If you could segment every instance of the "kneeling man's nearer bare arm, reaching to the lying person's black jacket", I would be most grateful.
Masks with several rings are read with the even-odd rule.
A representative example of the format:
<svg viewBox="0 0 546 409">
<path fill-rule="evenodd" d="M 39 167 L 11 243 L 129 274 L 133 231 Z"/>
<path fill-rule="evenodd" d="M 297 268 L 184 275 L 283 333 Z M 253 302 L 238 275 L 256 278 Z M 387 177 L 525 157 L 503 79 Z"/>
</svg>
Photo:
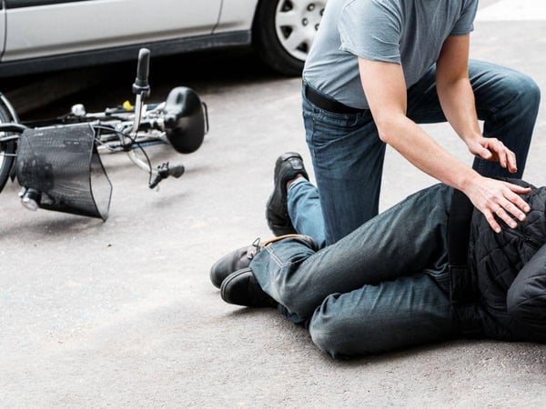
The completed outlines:
<svg viewBox="0 0 546 409">
<path fill-rule="evenodd" d="M 501 231 L 501 226 L 494 214 L 512 227 L 517 225 L 512 216 L 525 219 L 529 206 L 518 194 L 528 193 L 527 189 L 479 175 L 406 116 L 407 91 L 401 65 L 359 58 L 359 71 L 383 142 L 421 171 L 468 195 L 495 231 Z"/>
</svg>

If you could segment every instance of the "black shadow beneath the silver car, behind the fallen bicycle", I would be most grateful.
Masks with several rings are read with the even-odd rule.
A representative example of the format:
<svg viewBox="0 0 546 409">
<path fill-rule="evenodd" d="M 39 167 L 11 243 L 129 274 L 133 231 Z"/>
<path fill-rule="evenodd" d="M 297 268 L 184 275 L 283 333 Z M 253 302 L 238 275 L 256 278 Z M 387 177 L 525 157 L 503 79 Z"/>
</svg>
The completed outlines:
<svg viewBox="0 0 546 409">
<path fill-rule="evenodd" d="M 98 112 L 132 101 L 135 61 L 96 65 L 61 72 L 2 80 L 0 90 L 12 101 L 22 121 L 64 115 L 82 103 L 87 112 Z M 253 84 L 286 78 L 266 65 L 247 48 L 183 55 L 152 55 L 150 99 L 162 100 L 175 86 L 188 86 L 197 93 L 215 86 Z M 21 92 L 23 91 L 23 92 Z M 40 104 L 39 101 L 44 101 Z"/>
</svg>

